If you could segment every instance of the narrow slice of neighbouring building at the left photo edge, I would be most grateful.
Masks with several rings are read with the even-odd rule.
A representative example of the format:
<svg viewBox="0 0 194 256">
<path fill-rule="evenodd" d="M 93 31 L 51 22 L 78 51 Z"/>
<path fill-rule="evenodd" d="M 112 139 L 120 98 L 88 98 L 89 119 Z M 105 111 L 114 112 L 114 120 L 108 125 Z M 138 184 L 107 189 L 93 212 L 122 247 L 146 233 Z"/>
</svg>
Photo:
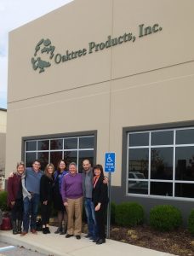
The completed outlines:
<svg viewBox="0 0 194 256">
<path fill-rule="evenodd" d="M 5 174 L 7 110 L 0 108 L 0 176 Z"/>
</svg>

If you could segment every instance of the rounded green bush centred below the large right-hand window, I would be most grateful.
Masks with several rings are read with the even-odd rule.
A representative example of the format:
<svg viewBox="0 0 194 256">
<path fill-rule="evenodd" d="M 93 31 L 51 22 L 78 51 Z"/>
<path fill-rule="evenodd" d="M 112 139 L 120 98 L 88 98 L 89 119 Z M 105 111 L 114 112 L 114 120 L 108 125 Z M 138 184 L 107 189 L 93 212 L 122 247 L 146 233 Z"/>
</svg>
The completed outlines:
<svg viewBox="0 0 194 256">
<path fill-rule="evenodd" d="M 155 230 L 170 231 L 182 224 L 181 212 L 178 208 L 163 205 L 153 207 L 150 212 L 150 225 Z"/>
</svg>

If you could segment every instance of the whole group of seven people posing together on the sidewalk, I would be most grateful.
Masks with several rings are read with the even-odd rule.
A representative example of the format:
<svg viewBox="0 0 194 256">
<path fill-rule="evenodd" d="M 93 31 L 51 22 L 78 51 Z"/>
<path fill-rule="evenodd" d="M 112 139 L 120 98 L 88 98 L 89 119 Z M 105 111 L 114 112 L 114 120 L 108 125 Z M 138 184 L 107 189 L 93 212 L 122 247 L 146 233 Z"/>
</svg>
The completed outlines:
<svg viewBox="0 0 194 256">
<path fill-rule="evenodd" d="M 59 161 L 56 171 L 54 165 L 49 163 L 44 172 L 41 171 L 39 160 L 34 160 L 32 167 L 28 168 L 23 162 L 18 163 L 16 172 L 9 175 L 8 181 L 13 234 L 26 236 L 29 227 L 31 233 L 37 234 L 40 202 L 43 234 L 50 233 L 49 218 L 53 204 L 59 224 L 54 233 L 80 239 L 84 204 L 88 222 L 88 234 L 85 237 L 96 244 L 106 242 L 107 183 L 103 167 L 96 165 L 92 168 L 89 160 L 83 160 L 82 173 L 77 172 L 74 162 L 66 170 L 65 160 Z"/>
</svg>

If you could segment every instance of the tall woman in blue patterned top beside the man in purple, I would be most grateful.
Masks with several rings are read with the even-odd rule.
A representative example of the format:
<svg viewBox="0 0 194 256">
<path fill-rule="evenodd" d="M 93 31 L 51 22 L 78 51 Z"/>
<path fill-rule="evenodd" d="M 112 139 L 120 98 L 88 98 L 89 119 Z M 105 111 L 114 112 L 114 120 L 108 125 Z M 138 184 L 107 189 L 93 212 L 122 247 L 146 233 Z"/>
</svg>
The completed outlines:
<svg viewBox="0 0 194 256">
<path fill-rule="evenodd" d="M 61 197 L 61 183 L 63 177 L 67 174 L 65 160 L 60 160 L 57 165 L 57 171 L 54 172 L 54 209 L 57 210 L 58 217 L 58 229 L 54 232 L 55 234 L 65 235 L 67 226 L 67 213 L 66 207 L 63 205 Z M 62 224 L 64 221 L 64 224 Z"/>
</svg>

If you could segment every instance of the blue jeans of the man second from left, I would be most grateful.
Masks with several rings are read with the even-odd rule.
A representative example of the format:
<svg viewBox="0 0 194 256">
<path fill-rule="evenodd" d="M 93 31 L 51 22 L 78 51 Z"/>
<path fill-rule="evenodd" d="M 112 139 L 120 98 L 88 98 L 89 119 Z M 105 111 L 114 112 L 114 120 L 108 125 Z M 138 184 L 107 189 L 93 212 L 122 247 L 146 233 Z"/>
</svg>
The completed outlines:
<svg viewBox="0 0 194 256">
<path fill-rule="evenodd" d="M 24 199 L 23 228 L 26 232 L 28 232 L 29 224 L 31 224 L 31 230 L 36 230 L 37 208 L 39 205 L 39 198 L 40 195 L 33 194 L 31 195 L 31 200 L 27 196 Z"/>
</svg>

